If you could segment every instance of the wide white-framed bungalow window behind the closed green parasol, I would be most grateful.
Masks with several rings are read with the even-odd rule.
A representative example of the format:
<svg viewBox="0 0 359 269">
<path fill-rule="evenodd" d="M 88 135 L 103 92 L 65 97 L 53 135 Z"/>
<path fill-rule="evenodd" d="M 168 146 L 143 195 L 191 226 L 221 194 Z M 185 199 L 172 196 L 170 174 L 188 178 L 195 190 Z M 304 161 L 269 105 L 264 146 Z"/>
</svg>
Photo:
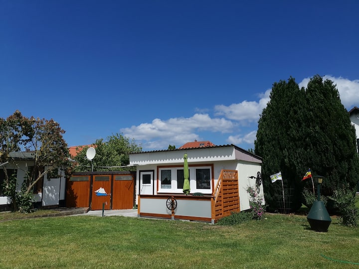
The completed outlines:
<svg viewBox="0 0 359 269">
<path fill-rule="evenodd" d="M 193 167 L 189 169 L 189 184 L 191 193 L 211 193 L 212 174 L 209 166 Z M 183 167 L 159 169 L 159 192 L 182 193 L 183 191 Z"/>
</svg>

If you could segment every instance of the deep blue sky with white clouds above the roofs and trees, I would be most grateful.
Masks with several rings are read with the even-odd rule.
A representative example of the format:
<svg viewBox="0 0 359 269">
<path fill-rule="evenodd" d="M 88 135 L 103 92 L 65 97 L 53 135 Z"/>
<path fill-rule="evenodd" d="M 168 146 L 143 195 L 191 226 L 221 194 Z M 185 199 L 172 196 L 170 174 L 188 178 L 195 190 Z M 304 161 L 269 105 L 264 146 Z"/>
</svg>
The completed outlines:
<svg viewBox="0 0 359 269">
<path fill-rule="evenodd" d="M 359 1 L 0 0 L 0 117 L 54 119 L 69 146 L 254 147 L 274 82 L 333 80 L 359 106 Z"/>
</svg>

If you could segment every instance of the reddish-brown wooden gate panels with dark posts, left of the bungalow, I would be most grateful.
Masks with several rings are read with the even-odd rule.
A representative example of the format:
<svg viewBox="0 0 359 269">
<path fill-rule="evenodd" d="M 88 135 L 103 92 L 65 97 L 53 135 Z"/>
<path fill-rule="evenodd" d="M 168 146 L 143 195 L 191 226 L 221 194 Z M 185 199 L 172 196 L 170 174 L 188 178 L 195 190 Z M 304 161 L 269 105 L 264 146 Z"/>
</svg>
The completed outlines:
<svg viewBox="0 0 359 269">
<path fill-rule="evenodd" d="M 130 171 L 76 172 L 67 180 L 66 207 L 132 209 L 135 182 L 135 173 Z M 97 196 L 100 187 L 109 195 Z"/>
</svg>

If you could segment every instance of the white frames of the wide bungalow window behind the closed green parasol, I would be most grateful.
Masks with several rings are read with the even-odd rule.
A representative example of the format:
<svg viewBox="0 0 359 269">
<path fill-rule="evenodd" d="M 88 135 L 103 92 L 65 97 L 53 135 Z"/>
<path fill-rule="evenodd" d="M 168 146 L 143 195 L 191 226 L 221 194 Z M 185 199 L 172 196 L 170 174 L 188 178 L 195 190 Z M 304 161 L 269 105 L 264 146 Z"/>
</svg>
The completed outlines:
<svg viewBox="0 0 359 269">
<path fill-rule="evenodd" d="M 209 169 L 210 175 L 210 188 L 209 189 L 197 189 L 196 184 L 196 169 Z M 161 188 L 161 171 L 171 170 L 171 188 Z M 183 170 L 183 167 L 165 167 L 162 166 L 158 170 L 158 193 L 183 193 L 183 189 L 177 188 L 177 170 Z M 190 193 L 201 192 L 203 194 L 212 194 L 212 166 L 190 166 L 189 167 L 189 185 Z"/>
</svg>

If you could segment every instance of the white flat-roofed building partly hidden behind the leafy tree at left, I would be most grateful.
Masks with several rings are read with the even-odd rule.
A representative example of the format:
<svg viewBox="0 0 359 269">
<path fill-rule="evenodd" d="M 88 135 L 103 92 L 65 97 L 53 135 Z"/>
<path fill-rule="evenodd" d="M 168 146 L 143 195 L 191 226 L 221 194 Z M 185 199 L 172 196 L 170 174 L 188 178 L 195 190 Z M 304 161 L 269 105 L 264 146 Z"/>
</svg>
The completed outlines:
<svg viewBox="0 0 359 269">
<path fill-rule="evenodd" d="M 8 175 L 15 175 L 17 190 L 21 188 L 26 172 L 33 169 L 34 153 L 31 151 L 11 152 L 12 161 L 6 163 Z M 41 169 L 47 169 L 43 166 Z M 47 174 L 33 188 L 34 202 L 38 206 L 63 206 L 65 204 L 65 173 L 64 167 L 59 167 L 60 178 L 48 179 Z M 4 196 L 2 182 L 4 181 L 3 167 L 0 167 L 0 211 L 9 210 L 11 198 Z"/>
</svg>

